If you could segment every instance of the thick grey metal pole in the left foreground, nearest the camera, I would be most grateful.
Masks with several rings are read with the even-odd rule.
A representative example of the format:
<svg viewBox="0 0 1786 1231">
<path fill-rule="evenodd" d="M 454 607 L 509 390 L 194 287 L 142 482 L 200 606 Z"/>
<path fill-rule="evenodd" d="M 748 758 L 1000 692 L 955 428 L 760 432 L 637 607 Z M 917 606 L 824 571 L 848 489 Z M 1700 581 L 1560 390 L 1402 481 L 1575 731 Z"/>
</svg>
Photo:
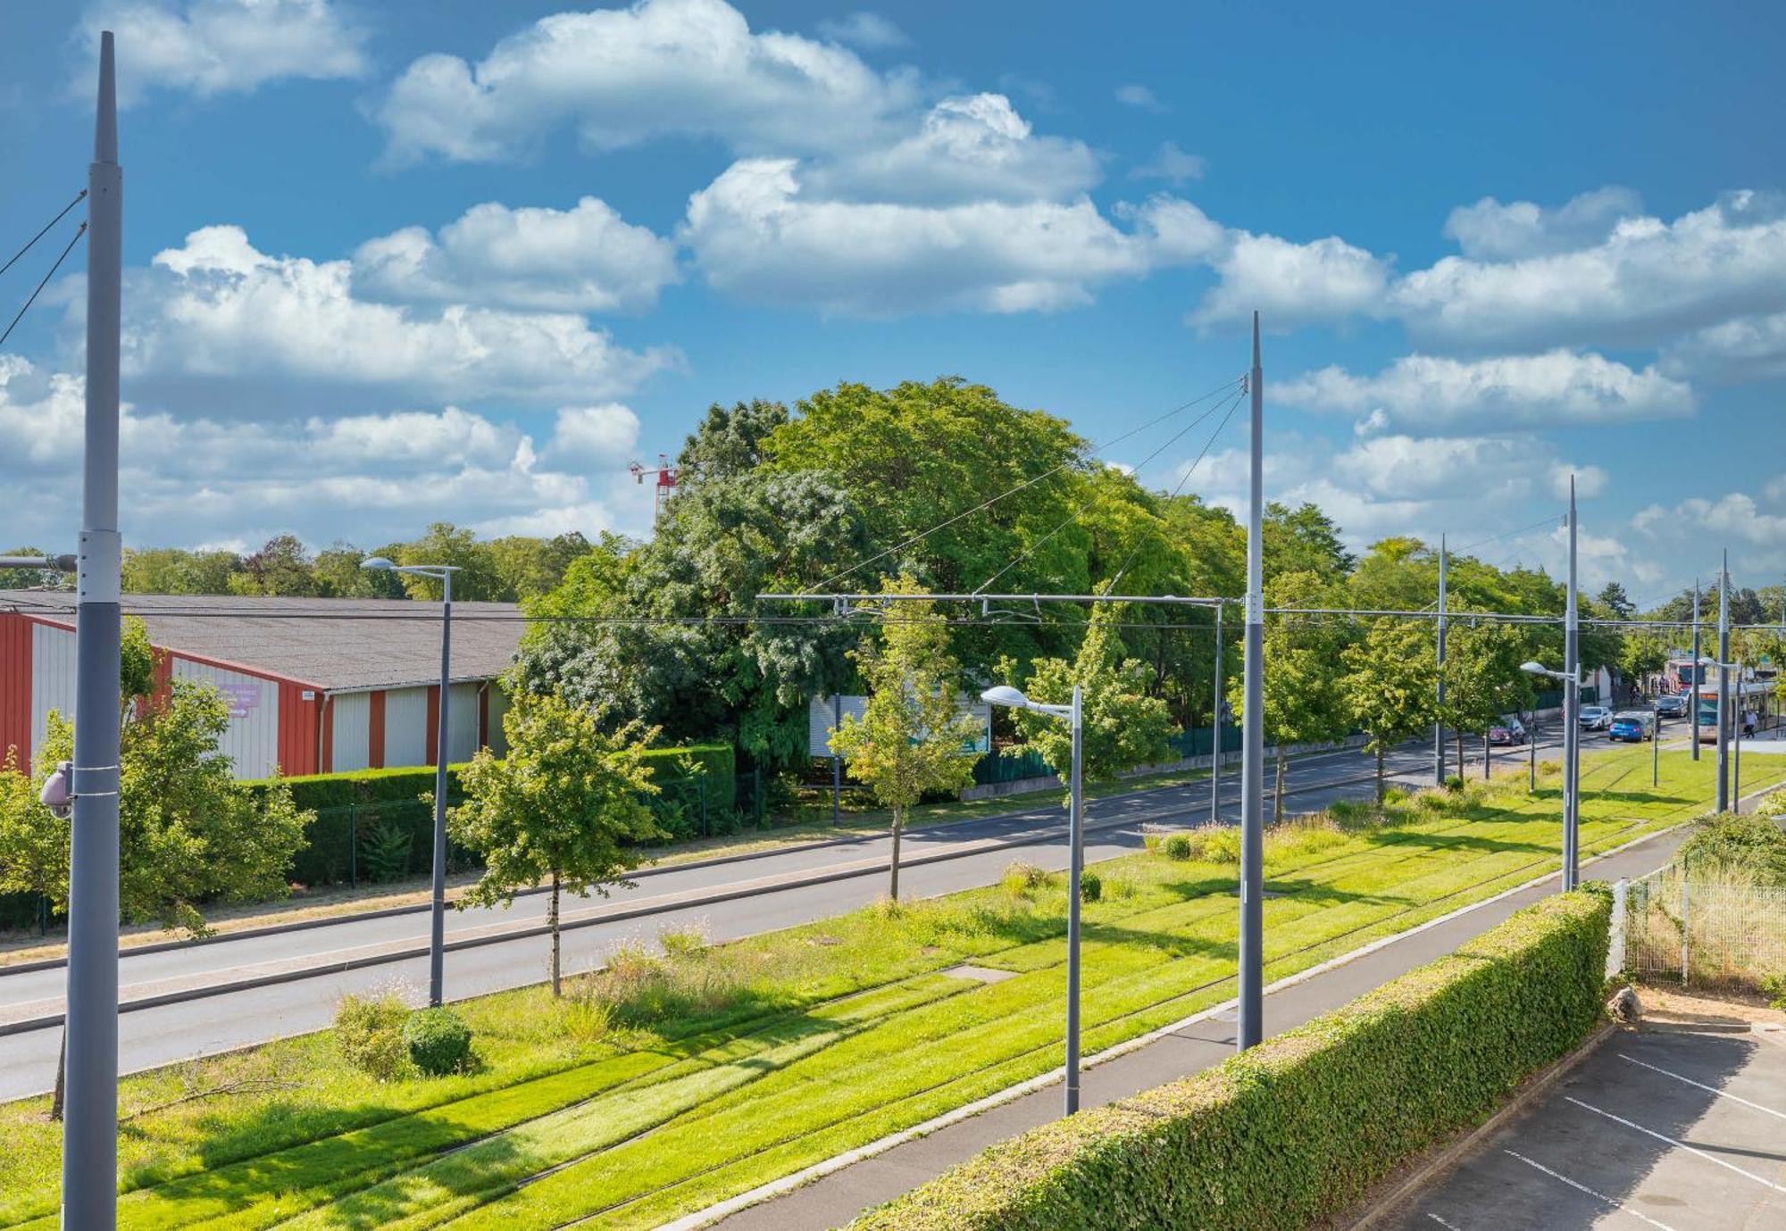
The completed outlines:
<svg viewBox="0 0 1786 1231">
<path fill-rule="evenodd" d="M 75 812 L 68 885 L 68 1072 L 63 1226 L 118 1220 L 118 323 L 123 169 L 111 30 L 100 34 L 98 111 L 88 166 L 88 392 L 75 616 Z"/>
</svg>

